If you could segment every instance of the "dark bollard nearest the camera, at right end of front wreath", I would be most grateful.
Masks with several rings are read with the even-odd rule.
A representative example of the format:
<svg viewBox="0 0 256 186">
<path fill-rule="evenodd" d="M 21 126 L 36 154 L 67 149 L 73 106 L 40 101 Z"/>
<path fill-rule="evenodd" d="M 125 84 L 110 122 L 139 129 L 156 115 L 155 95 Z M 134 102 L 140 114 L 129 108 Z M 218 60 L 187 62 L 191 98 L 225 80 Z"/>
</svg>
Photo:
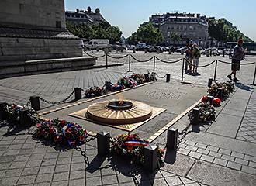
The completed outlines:
<svg viewBox="0 0 256 186">
<path fill-rule="evenodd" d="M 157 146 L 151 146 L 148 145 L 144 148 L 144 169 L 153 172 L 157 169 L 157 161 L 158 161 L 158 156 L 157 156 Z"/>
</svg>

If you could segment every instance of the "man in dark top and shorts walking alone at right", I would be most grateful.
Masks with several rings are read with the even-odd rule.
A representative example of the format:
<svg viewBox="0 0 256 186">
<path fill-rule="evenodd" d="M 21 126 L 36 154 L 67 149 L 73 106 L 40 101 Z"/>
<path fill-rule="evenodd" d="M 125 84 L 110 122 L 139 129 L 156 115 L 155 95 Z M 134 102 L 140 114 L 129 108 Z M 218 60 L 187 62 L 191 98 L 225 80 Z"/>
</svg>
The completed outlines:
<svg viewBox="0 0 256 186">
<path fill-rule="evenodd" d="M 243 40 L 238 40 L 237 45 L 234 47 L 233 57 L 231 58 L 231 74 L 227 75 L 227 77 L 232 81 L 232 74 L 234 75 L 233 81 L 239 81 L 237 79 L 237 71 L 240 71 L 240 61 L 244 59 L 244 48 L 243 48 Z"/>
</svg>

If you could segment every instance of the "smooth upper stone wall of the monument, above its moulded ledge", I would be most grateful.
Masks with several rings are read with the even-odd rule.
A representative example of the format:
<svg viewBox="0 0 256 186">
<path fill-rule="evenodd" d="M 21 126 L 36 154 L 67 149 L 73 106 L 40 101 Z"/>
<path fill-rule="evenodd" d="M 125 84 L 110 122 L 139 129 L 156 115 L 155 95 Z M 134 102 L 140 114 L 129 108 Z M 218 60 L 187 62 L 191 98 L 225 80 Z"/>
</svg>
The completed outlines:
<svg viewBox="0 0 256 186">
<path fill-rule="evenodd" d="M 1 0 L 0 22 L 64 29 L 64 0 Z"/>
</svg>

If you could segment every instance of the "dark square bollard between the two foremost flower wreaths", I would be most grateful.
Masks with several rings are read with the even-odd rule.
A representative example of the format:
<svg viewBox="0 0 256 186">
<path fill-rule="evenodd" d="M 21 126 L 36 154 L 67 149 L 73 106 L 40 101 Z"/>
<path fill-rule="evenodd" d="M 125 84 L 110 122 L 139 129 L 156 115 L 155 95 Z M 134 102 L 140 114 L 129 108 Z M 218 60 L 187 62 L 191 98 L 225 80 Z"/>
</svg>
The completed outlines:
<svg viewBox="0 0 256 186">
<path fill-rule="evenodd" d="M 106 156 L 110 152 L 110 133 L 109 132 L 100 132 L 97 134 L 97 149 L 98 154 Z"/>
</svg>

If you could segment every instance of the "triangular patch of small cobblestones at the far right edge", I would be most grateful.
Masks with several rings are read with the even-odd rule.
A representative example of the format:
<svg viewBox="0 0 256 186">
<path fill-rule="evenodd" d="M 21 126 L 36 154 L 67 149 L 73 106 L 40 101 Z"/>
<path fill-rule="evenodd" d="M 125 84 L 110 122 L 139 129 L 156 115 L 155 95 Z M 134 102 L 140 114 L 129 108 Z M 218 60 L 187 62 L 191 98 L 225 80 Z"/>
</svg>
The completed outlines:
<svg viewBox="0 0 256 186">
<path fill-rule="evenodd" d="M 237 139 L 256 143 L 256 94 L 251 94 L 244 119 L 237 133 Z"/>
</svg>

